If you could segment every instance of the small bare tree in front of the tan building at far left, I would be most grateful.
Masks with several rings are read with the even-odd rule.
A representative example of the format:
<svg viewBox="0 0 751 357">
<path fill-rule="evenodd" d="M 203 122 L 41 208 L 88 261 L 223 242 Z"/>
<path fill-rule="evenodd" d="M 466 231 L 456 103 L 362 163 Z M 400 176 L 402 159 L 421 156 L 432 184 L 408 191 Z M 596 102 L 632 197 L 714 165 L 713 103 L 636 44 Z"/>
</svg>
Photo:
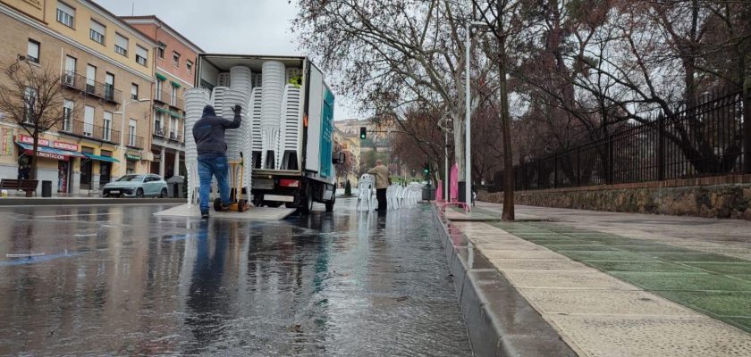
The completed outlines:
<svg viewBox="0 0 751 357">
<path fill-rule="evenodd" d="M 5 67 L 0 81 L 0 112 L 34 138 L 31 179 L 37 178 L 39 136 L 64 120 L 63 77 L 46 67 L 18 61 Z M 72 115 L 72 114 L 71 114 Z"/>
</svg>

